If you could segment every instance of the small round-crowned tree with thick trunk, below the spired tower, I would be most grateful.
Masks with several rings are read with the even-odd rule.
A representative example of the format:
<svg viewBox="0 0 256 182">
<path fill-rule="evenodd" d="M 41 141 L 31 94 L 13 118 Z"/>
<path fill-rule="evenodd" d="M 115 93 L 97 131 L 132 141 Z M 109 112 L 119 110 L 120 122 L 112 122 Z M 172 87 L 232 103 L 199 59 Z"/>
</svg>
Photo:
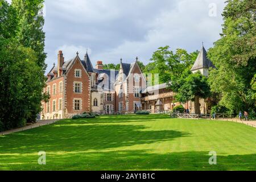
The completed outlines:
<svg viewBox="0 0 256 182">
<path fill-rule="evenodd" d="M 184 71 L 180 78 L 176 77 L 176 80 L 172 81 L 170 88 L 176 93 L 176 101 L 194 101 L 196 114 L 200 114 L 200 98 L 210 97 L 207 77 L 200 71 L 193 74 L 188 70 Z"/>
</svg>

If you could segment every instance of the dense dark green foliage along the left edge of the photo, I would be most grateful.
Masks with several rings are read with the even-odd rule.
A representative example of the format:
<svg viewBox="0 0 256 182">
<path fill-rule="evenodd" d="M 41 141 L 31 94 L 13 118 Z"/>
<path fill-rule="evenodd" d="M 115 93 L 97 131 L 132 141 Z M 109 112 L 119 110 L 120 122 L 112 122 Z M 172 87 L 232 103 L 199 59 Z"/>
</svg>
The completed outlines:
<svg viewBox="0 0 256 182">
<path fill-rule="evenodd" d="M 45 78 L 36 50 L 17 38 L 19 5 L 0 2 L 0 122 L 1 130 L 8 130 L 34 122 L 42 110 L 41 101 L 47 101 L 48 95 L 42 94 Z"/>
</svg>

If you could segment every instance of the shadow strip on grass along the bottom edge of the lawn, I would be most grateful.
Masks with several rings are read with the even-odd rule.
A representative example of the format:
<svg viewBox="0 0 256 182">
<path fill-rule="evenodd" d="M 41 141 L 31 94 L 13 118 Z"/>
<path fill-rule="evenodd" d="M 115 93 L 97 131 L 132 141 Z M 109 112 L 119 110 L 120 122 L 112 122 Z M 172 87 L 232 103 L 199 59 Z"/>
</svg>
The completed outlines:
<svg viewBox="0 0 256 182">
<path fill-rule="evenodd" d="M 217 155 L 217 164 L 210 165 L 209 151 L 150 153 L 147 150 L 115 152 L 78 152 L 48 155 L 47 165 L 36 164 L 36 156 L 23 163 L 9 163 L 0 169 L 19 170 L 256 170 L 256 154 Z M 34 161 L 33 163 L 31 161 Z M 30 162 L 30 163 L 29 163 Z"/>
</svg>

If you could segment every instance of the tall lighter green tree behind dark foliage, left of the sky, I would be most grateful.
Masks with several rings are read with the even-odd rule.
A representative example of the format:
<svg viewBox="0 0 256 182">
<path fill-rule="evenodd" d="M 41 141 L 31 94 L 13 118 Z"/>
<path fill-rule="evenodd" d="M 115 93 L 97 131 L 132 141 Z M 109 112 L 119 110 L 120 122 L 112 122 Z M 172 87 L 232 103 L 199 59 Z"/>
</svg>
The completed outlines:
<svg viewBox="0 0 256 182">
<path fill-rule="evenodd" d="M 44 17 L 40 12 L 44 0 L 13 0 L 12 5 L 18 13 L 18 40 L 24 47 L 32 48 L 36 53 L 36 62 L 46 69 L 43 32 Z"/>
</svg>

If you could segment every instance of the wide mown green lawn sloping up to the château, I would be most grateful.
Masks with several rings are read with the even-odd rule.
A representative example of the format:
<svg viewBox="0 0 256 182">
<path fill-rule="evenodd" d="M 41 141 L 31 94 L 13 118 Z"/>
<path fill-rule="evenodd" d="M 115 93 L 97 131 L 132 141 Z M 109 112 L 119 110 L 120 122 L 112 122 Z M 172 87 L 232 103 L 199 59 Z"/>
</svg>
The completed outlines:
<svg viewBox="0 0 256 182">
<path fill-rule="evenodd" d="M 209 165 L 209 151 L 217 165 Z M 0 136 L 0 170 L 8 169 L 256 170 L 256 129 L 166 115 L 67 119 Z"/>
</svg>

